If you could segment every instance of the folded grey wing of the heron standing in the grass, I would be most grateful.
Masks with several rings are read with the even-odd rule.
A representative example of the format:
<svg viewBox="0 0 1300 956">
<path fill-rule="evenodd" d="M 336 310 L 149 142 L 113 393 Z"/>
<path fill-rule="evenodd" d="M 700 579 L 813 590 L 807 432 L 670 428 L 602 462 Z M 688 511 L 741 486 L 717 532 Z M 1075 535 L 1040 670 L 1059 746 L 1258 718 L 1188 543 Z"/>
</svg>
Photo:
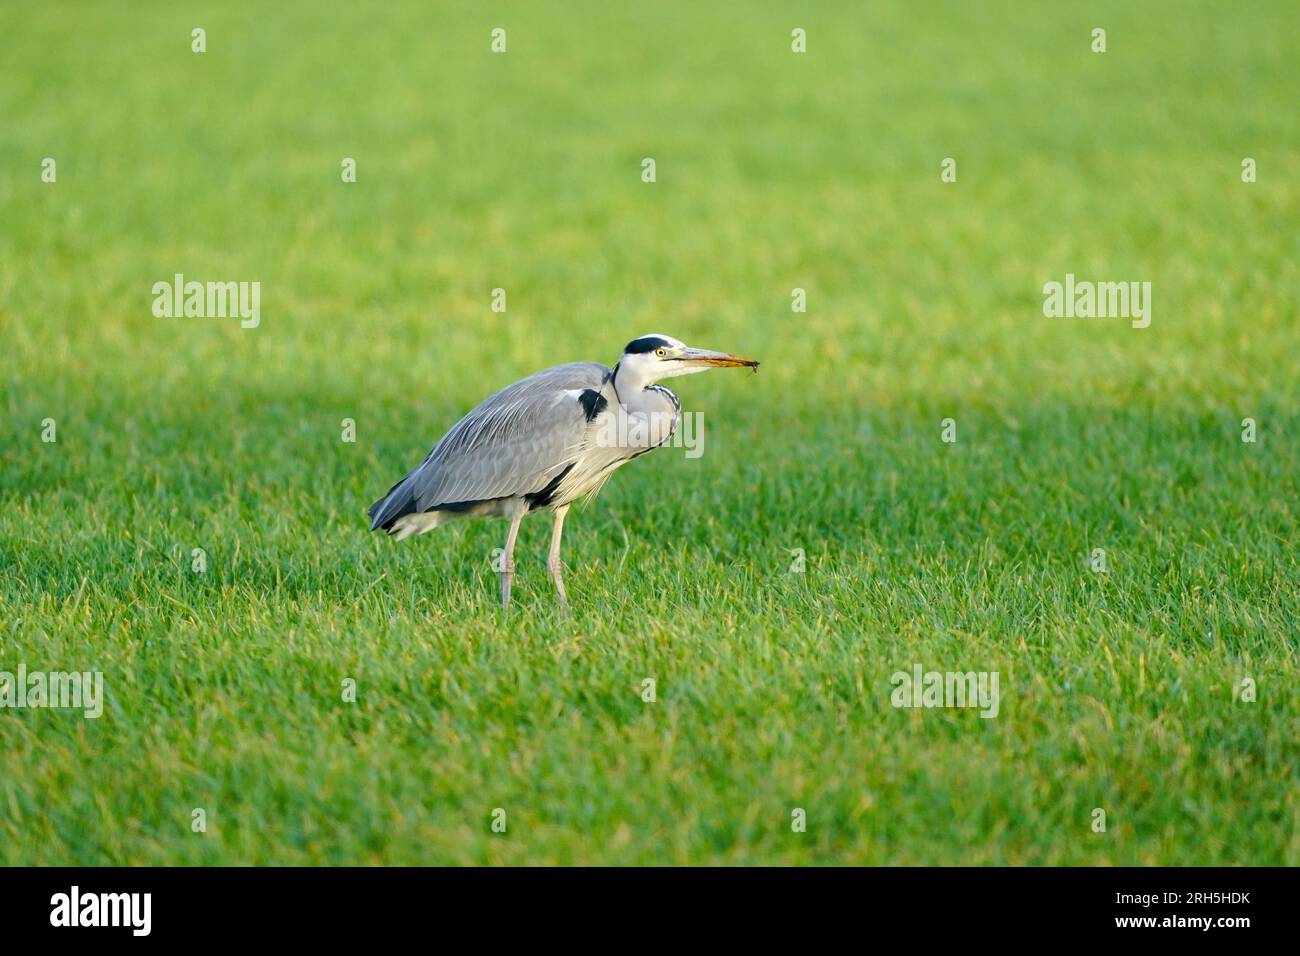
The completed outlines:
<svg viewBox="0 0 1300 956">
<path fill-rule="evenodd" d="M 610 375 L 597 362 L 556 365 L 485 399 L 374 503 L 372 527 L 403 514 L 541 492 L 576 460 L 589 425 L 581 395 L 599 393 Z"/>
</svg>

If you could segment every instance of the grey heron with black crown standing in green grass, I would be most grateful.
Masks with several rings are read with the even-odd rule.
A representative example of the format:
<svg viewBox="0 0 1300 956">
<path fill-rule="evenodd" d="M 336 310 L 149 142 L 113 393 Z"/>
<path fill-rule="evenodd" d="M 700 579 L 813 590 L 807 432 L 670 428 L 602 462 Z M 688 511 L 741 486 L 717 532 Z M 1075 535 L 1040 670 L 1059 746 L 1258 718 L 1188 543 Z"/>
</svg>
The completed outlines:
<svg viewBox="0 0 1300 956">
<path fill-rule="evenodd" d="M 681 403 L 655 382 L 727 367 L 757 369 L 758 363 L 649 334 L 628 342 L 614 368 L 575 362 L 530 375 L 452 425 L 370 506 L 370 531 L 382 528 L 400 541 L 456 518 L 510 519 L 499 570 L 500 602 L 508 609 L 519 524 L 532 511 L 551 511 L 546 572 L 567 607 L 560 533 L 569 505 L 593 497 L 615 468 L 672 438 Z"/>
</svg>

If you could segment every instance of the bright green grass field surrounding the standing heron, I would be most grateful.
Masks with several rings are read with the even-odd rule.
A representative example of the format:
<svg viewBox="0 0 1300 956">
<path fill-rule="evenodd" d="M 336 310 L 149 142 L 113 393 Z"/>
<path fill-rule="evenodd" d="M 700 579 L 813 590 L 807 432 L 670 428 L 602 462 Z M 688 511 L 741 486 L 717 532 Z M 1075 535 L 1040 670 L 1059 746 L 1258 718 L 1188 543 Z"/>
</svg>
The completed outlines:
<svg viewBox="0 0 1300 956">
<path fill-rule="evenodd" d="M 107 702 L 0 710 L 0 864 L 1300 862 L 1295 8 L 1078 7 L 5 5 L 0 670 Z M 504 524 L 367 532 L 645 332 L 762 372 L 569 515 L 571 619 L 546 519 L 504 620 Z"/>
</svg>

